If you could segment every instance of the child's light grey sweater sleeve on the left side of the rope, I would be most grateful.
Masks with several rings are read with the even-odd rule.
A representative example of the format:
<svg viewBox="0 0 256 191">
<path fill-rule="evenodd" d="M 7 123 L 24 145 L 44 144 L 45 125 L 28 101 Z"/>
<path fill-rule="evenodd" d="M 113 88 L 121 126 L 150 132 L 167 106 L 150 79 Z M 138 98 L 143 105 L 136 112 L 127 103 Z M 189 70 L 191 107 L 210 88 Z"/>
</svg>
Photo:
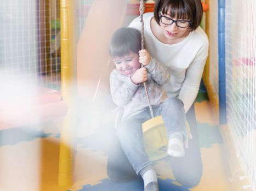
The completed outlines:
<svg viewBox="0 0 256 191">
<path fill-rule="evenodd" d="M 125 77 L 121 80 L 120 74 L 115 70 L 110 74 L 110 91 L 113 102 L 118 106 L 126 105 L 133 97 L 133 94 L 138 89 L 139 85 L 135 85 L 130 77 Z"/>
</svg>

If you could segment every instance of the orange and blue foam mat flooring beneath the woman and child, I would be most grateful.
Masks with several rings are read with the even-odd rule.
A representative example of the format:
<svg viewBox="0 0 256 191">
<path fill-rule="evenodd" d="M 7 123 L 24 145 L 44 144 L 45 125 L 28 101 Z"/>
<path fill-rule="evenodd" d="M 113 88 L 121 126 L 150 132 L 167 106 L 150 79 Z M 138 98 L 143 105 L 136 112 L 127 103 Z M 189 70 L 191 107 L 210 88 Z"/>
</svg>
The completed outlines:
<svg viewBox="0 0 256 191">
<path fill-rule="evenodd" d="M 203 162 L 201 182 L 193 188 L 175 182 L 170 164 L 162 159 L 155 163 L 161 191 L 231 190 L 223 140 L 205 92 L 198 94 L 195 110 Z M 141 178 L 124 183 L 110 181 L 106 174 L 108 156 L 105 152 L 109 148 L 93 144 L 93 136 L 77 138 L 74 183 L 70 187 L 58 186 L 59 133 L 53 122 L 0 131 L 0 190 L 144 190 Z M 104 136 L 104 133 L 98 135 Z"/>
</svg>

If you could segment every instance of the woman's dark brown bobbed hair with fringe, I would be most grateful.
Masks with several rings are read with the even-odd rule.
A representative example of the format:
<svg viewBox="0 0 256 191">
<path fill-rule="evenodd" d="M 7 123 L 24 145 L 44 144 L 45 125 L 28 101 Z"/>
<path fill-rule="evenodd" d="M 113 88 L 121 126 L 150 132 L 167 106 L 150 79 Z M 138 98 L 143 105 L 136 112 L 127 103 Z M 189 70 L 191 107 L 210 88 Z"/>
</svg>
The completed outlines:
<svg viewBox="0 0 256 191">
<path fill-rule="evenodd" d="M 202 20 L 203 7 L 201 0 L 156 0 L 154 17 L 160 25 L 160 13 L 178 19 L 189 19 L 189 27 L 195 30 Z"/>
</svg>

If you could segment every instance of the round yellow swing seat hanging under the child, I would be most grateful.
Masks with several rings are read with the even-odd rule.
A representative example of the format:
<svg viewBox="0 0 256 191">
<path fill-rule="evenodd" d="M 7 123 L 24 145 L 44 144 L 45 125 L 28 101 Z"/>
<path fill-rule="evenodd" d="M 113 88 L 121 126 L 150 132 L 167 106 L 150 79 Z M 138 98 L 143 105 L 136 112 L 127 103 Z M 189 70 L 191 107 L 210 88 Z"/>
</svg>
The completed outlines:
<svg viewBox="0 0 256 191">
<path fill-rule="evenodd" d="M 168 156 L 168 139 L 162 116 L 153 117 L 142 124 L 145 151 L 151 161 Z"/>
</svg>

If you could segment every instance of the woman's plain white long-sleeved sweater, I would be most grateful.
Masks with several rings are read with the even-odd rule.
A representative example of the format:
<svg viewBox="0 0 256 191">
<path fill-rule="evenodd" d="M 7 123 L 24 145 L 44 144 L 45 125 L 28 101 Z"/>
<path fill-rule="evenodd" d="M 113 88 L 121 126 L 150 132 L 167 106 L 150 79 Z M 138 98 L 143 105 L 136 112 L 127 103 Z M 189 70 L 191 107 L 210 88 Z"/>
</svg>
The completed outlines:
<svg viewBox="0 0 256 191">
<path fill-rule="evenodd" d="M 204 64 L 208 56 L 208 38 L 198 27 L 177 44 L 164 44 L 153 35 L 150 20 L 153 13 L 144 14 L 145 49 L 150 55 L 170 68 L 171 77 L 164 85 L 168 97 L 178 97 L 187 112 L 194 103 L 200 86 Z M 129 27 L 141 31 L 139 17 Z"/>
</svg>

